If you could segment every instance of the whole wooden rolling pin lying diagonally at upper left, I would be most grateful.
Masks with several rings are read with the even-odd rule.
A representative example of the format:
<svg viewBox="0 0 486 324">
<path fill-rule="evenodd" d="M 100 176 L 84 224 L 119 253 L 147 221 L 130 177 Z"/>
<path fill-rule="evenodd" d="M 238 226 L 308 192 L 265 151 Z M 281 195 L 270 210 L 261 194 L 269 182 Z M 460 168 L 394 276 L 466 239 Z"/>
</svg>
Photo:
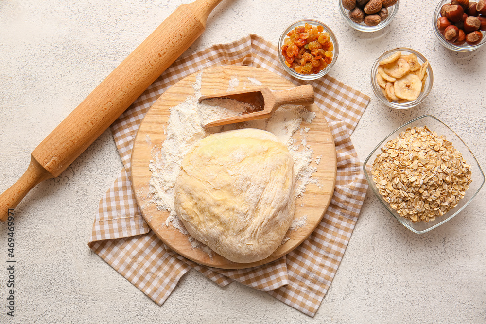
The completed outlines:
<svg viewBox="0 0 486 324">
<path fill-rule="evenodd" d="M 0 195 L 0 220 L 41 181 L 57 177 L 204 32 L 221 0 L 180 5 L 32 152 L 27 171 Z"/>
</svg>

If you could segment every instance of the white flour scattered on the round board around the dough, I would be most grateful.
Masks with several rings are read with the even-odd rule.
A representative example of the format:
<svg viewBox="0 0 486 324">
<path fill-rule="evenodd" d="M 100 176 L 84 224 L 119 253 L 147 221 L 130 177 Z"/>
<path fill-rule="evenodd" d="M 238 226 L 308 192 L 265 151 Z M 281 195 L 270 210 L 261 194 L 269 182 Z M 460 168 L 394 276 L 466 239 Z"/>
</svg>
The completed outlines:
<svg viewBox="0 0 486 324">
<path fill-rule="evenodd" d="M 240 128 L 267 130 L 277 136 L 293 156 L 296 197 L 304 194 L 309 183 L 317 184 L 317 179 L 312 178 L 312 173 L 317 171 L 317 168 L 309 165 L 312 162 L 313 153 L 311 146 L 306 145 L 305 139 L 302 142 L 303 146 L 295 145 L 295 139 L 292 137 L 300 129 L 302 120 L 311 123 L 312 119 L 315 118 L 315 113 L 306 110 L 303 106 L 282 106 L 269 119 L 257 119 L 245 123 L 204 129 L 202 125 L 226 117 L 241 115 L 251 106 L 229 99 L 209 99 L 197 103 L 197 98 L 202 96 L 201 79 L 202 73 L 199 73 L 196 76 L 196 82 L 192 85 L 195 91 L 194 96 L 187 97 L 184 102 L 170 109 L 168 126 L 164 128 L 166 139 L 161 147 L 154 146 L 152 149 L 152 160 L 149 164 L 149 169 L 152 171 L 149 193 L 152 195 L 151 202 L 156 204 L 157 209 L 169 212 L 169 217 L 165 222 L 166 226 L 172 224 L 181 233 L 188 234 L 175 213 L 174 184 L 186 153 L 196 141 L 212 133 Z M 261 85 L 261 82 L 254 78 L 249 77 L 248 80 L 252 84 Z M 231 79 L 228 91 L 234 90 L 238 85 L 237 78 Z M 307 216 L 305 216 L 305 219 L 307 219 Z M 303 226 L 300 221 L 295 224 L 294 222 L 292 225 L 295 225 L 294 229 Z M 197 243 L 194 243 L 194 241 L 196 240 L 192 238 L 192 247 L 202 247 L 205 251 L 208 249 L 208 253 L 211 252 L 204 244 L 197 241 Z M 196 246 L 197 244 L 200 245 Z"/>
</svg>

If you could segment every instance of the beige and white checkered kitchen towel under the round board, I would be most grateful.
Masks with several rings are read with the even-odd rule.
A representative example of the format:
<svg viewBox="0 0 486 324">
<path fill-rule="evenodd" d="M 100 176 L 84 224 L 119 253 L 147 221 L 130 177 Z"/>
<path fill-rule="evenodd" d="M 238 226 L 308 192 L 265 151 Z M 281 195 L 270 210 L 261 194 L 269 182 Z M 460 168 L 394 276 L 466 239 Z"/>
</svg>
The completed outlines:
<svg viewBox="0 0 486 324">
<path fill-rule="evenodd" d="M 294 251 L 255 268 L 208 268 L 170 250 L 143 220 L 130 186 L 130 156 L 140 122 L 156 99 L 171 85 L 201 68 L 246 65 L 265 68 L 291 80 L 281 68 L 277 48 L 250 34 L 230 44 L 214 45 L 179 59 L 168 68 L 111 126 L 124 169 L 100 201 L 89 247 L 139 290 L 161 305 L 180 277 L 191 268 L 220 286 L 232 281 L 266 291 L 282 302 L 313 316 L 329 289 L 344 255 L 363 204 L 367 184 L 350 134 L 369 97 L 325 76 L 310 84 L 325 116 L 337 149 L 334 196 L 322 222 Z"/>
</svg>

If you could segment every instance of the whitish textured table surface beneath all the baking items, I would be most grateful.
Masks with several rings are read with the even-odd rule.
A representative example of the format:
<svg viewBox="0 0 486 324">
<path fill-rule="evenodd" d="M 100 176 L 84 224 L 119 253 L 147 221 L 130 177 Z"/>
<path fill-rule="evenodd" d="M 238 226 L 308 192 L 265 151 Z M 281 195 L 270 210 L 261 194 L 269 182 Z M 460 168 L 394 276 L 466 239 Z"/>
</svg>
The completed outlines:
<svg viewBox="0 0 486 324">
<path fill-rule="evenodd" d="M 4 0 L 0 2 L 0 191 L 30 153 L 181 3 L 190 0 Z M 364 160 L 402 123 L 432 114 L 450 125 L 486 167 L 486 46 L 443 48 L 432 31 L 437 1 L 402 0 L 384 30 L 348 27 L 337 0 L 223 0 L 185 54 L 249 33 L 277 43 L 302 18 L 328 24 L 340 54 L 330 75 L 371 97 L 352 135 Z M 394 47 L 422 52 L 434 87 L 397 111 L 374 96 L 375 58 Z M 109 131 L 61 176 L 16 208 L 15 318 L 6 315 L 7 225 L 0 225 L 0 322 L 10 323 L 485 323 L 486 190 L 450 222 L 417 235 L 368 190 L 342 263 L 316 316 L 238 283 L 225 288 L 196 271 L 157 306 L 106 264 L 87 241 L 98 202 L 121 170 Z"/>
</svg>

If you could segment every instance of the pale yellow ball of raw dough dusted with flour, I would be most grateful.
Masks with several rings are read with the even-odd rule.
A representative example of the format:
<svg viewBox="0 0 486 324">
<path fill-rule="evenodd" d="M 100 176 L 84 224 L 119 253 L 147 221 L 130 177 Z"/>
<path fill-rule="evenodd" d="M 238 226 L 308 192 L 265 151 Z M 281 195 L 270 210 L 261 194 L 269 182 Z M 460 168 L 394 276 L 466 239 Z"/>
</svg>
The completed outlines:
<svg viewBox="0 0 486 324">
<path fill-rule="evenodd" d="M 188 232 L 228 260 L 270 256 L 294 217 L 294 161 L 267 131 L 247 128 L 199 140 L 182 161 L 175 211 Z"/>
</svg>

